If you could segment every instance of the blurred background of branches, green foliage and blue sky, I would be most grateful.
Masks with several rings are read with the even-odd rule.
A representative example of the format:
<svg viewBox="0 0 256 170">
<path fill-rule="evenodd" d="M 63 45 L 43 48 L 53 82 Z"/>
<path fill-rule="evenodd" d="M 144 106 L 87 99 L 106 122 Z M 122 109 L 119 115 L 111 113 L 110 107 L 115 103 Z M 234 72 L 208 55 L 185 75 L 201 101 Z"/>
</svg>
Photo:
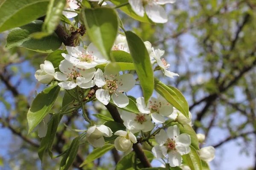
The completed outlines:
<svg viewBox="0 0 256 170">
<path fill-rule="evenodd" d="M 111 3 L 108 3 L 111 5 Z M 204 146 L 216 148 L 212 170 L 256 170 L 256 0 L 177 0 L 165 6 L 166 24 L 140 23 L 119 11 L 126 29 L 136 32 L 154 48 L 165 50 L 169 70 L 179 74 L 171 79 L 155 72 L 186 97 L 197 133 L 206 135 Z M 8 31 L 0 34 L 0 170 L 55 170 L 59 159 L 45 157 L 41 166 L 37 132 L 27 136 L 26 113 L 34 91 L 45 86 L 35 71 L 46 53 L 25 48 L 5 49 Z M 88 37 L 83 37 L 85 45 Z M 63 96 L 64 92 L 61 92 Z M 140 88 L 129 94 L 142 96 Z M 61 95 L 54 111 L 61 108 Z M 92 114 L 110 116 L 102 104 L 87 106 Z M 86 129 L 82 115 L 64 116 L 62 122 L 74 129 Z M 58 127 L 53 150 L 58 155 L 77 136 L 63 124 Z M 80 147 L 75 164 L 93 148 Z M 122 153 L 112 150 L 84 169 L 113 169 Z M 160 166 L 153 161 L 154 166 Z M 73 167 L 76 169 L 76 167 Z"/>
</svg>

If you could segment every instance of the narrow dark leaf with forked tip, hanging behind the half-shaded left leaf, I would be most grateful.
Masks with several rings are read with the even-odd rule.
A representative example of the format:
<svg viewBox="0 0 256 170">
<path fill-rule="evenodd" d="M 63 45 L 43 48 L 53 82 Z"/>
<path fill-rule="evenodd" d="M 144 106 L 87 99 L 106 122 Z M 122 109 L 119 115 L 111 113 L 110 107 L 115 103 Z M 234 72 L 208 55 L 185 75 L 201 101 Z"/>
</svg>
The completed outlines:
<svg viewBox="0 0 256 170">
<path fill-rule="evenodd" d="M 52 118 L 48 123 L 46 136 L 42 138 L 40 147 L 38 149 L 38 156 L 41 159 L 41 163 L 43 163 L 43 157 L 46 150 L 48 150 L 48 153 L 52 158 L 52 151 L 51 151 L 52 144 L 53 144 L 61 117 L 62 116 L 60 116 L 60 114 L 55 114 L 54 116 L 52 116 Z"/>
</svg>

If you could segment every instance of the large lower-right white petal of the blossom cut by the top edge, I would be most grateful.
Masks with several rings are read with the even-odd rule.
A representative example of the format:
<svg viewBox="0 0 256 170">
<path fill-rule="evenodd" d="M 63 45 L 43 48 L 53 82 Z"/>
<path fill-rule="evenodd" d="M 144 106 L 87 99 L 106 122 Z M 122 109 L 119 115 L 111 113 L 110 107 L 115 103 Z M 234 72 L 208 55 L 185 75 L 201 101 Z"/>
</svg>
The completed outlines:
<svg viewBox="0 0 256 170">
<path fill-rule="evenodd" d="M 147 4 L 145 12 L 154 23 L 166 23 L 168 21 L 166 11 L 157 3 Z"/>
</svg>

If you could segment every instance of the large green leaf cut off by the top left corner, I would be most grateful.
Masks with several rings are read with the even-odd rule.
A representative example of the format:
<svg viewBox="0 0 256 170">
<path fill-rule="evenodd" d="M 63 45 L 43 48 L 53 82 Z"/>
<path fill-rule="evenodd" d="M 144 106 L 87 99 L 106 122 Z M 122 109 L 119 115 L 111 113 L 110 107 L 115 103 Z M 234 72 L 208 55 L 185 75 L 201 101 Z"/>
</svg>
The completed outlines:
<svg viewBox="0 0 256 170">
<path fill-rule="evenodd" d="M 44 16 L 48 4 L 49 0 L 2 0 L 0 3 L 0 32 L 23 26 Z"/>
</svg>

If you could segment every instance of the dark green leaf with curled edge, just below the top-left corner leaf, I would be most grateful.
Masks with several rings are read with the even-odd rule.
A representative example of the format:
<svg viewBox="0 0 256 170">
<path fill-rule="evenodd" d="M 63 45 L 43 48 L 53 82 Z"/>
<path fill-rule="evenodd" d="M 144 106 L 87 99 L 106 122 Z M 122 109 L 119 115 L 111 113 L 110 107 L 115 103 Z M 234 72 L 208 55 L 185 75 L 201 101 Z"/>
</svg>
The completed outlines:
<svg viewBox="0 0 256 170">
<path fill-rule="evenodd" d="M 62 42 L 55 33 L 40 40 L 29 37 L 34 32 L 40 32 L 42 24 L 43 21 L 35 20 L 25 26 L 12 29 L 6 40 L 6 48 L 23 47 L 43 53 L 49 53 L 60 48 Z"/>
</svg>

